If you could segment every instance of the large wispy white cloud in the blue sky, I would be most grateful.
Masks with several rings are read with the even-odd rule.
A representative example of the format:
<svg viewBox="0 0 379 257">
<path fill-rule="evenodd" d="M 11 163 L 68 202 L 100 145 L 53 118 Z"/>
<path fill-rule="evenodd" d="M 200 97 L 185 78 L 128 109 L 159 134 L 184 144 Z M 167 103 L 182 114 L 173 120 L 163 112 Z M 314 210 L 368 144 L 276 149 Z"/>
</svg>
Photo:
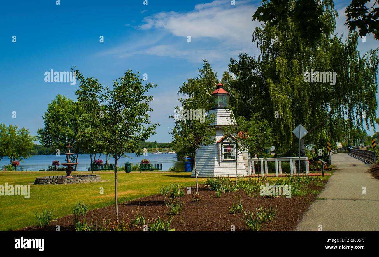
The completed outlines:
<svg viewBox="0 0 379 257">
<path fill-rule="evenodd" d="M 119 58 L 132 55 L 156 55 L 183 58 L 191 62 L 229 61 L 230 56 L 246 52 L 256 53 L 252 31 L 258 22 L 252 22 L 255 7 L 251 0 L 216 0 L 195 5 L 188 12 L 158 12 L 144 17 L 138 42 L 123 44 L 106 51 Z M 131 26 L 129 24 L 125 26 Z M 145 34 L 146 31 L 146 34 Z M 187 43 L 191 36 L 191 43 Z M 129 40 L 128 40 L 129 41 Z"/>
</svg>

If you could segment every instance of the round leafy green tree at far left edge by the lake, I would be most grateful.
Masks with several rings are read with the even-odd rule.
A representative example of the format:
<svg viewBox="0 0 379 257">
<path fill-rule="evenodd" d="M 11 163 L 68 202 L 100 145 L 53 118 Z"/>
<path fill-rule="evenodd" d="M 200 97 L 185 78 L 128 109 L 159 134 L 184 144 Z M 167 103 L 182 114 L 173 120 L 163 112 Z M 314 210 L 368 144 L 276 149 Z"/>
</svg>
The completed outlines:
<svg viewBox="0 0 379 257">
<path fill-rule="evenodd" d="M 33 150 L 33 141 L 37 138 L 29 135 L 28 129 L 18 129 L 18 126 L 5 126 L 0 123 L 0 160 L 8 156 L 12 162 L 31 157 Z"/>
</svg>

